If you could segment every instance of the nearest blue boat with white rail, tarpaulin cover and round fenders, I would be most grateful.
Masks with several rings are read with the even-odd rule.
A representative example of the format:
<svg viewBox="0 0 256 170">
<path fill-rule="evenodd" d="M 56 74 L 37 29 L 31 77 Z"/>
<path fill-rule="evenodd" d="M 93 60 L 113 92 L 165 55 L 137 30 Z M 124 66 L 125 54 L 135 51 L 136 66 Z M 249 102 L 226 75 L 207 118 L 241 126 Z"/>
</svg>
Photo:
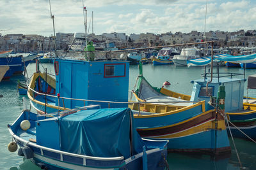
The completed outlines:
<svg viewBox="0 0 256 170">
<path fill-rule="evenodd" d="M 165 169 L 168 141 L 141 139 L 129 108 L 99 105 L 40 116 L 28 110 L 8 125 L 11 152 L 42 169 Z"/>
</svg>

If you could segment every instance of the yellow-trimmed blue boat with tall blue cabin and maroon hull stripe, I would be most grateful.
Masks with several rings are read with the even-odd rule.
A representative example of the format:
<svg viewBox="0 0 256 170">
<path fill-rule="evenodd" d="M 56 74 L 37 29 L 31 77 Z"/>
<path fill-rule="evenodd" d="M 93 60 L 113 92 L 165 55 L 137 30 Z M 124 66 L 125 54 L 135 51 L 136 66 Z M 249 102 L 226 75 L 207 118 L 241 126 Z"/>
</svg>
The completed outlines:
<svg viewBox="0 0 256 170">
<path fill-rule="evenodd" d="M 54 62 L 54 68 L 56 81 L 49 75 L 35 73 L 28 85 L 29 99 L 39 113 L 53 113 L 58 109 L 68 110 L 91 104 L 100 104 L 102 108 L 128 106 L 128 62 L 58 59 Z M 59 98 L 56 93 L 60 93 Z M 204 101 L 195 104 L 186 101 L 183 104 L 187 106 L 159 108 L 168 113 L 136 111 L 140 105 L 133 104 L 130 107 L 134 111 L 137 131 L 150 139 L 169 139 L 166 136 L 172 136 L 169 151 L 230 152 L 225 120 L 216 113 L 215 108 L 209 106 L 205 109 Z"/>
</svg>

